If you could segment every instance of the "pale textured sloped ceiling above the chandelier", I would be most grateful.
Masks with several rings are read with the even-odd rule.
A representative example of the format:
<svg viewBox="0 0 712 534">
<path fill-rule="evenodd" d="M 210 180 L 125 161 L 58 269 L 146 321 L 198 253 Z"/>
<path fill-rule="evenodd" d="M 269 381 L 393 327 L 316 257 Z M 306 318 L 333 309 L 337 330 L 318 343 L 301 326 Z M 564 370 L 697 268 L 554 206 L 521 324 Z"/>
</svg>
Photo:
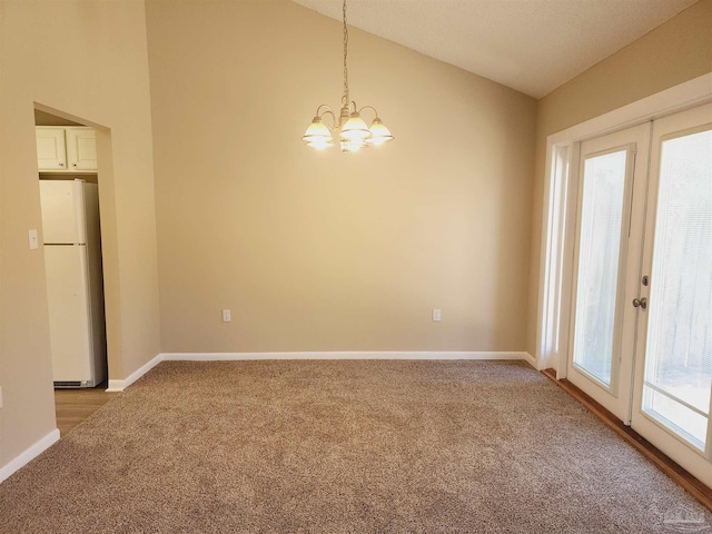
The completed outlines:
<svg viewBox="0 0 712 534">
<path fill-rule="evenodd" d="M 342 20 L 342 0 L 293 1 Z M 347 22 L 540 98 L 695 1 L 348 0 Z"/>
</svg>

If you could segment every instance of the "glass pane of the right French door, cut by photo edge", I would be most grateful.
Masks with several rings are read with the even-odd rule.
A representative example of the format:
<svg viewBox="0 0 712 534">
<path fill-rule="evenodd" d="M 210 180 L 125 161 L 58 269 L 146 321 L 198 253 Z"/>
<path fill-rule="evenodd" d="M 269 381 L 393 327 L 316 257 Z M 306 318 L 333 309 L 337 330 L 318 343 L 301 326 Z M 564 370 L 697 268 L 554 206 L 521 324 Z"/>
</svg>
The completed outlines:
<svg viewBox="0 0 712 534">
<path fill-rule="evenodd" d="M 712 131 L 663 141 L 643 411 L 704 449 L 712 383 Z"/>
</svg>

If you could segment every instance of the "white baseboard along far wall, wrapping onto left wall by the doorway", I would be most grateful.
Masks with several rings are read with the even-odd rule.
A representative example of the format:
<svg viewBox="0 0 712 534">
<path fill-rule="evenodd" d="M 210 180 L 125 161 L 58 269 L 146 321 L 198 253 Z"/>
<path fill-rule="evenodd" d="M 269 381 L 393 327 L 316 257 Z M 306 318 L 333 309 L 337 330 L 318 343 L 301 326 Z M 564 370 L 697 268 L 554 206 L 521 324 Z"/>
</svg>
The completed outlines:
<svg viewBox="0 0 712 534">
<path fill-rule="evenodd" d="M 122 392 L 161 362 L 240 362 L 257 359 L 518 359 L 536 368 L 528 353 L 468 350 L 379 350 L 379 352 L 296 352 L 296 353 L 160 353 L 123 380 L 109 380 L 107 392 Z"/>
</svg>

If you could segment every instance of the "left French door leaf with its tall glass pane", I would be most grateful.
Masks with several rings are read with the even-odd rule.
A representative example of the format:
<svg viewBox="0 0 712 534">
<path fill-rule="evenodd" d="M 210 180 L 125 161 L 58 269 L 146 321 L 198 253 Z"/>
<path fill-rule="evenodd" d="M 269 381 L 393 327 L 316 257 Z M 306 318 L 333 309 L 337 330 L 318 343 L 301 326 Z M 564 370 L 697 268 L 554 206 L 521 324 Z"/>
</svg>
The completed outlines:
<svg viewBox="0 0 712 534">
<path fill-rule="evenodd" d="M 649 147 L 647 123 L 580 147 L 567 378 L 625 424 L 631 421 L 636 312 L 627 305 L 626 286 L 635 285 L 640 268 Z"/>
</svg>

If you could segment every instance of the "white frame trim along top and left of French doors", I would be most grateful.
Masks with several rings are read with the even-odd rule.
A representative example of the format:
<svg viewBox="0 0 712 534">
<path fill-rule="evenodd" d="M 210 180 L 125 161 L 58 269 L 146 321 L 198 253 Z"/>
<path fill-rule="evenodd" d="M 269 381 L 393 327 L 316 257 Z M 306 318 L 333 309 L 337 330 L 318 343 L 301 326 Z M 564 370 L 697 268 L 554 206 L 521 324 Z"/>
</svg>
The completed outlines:
<svg viewBox="0 0 712 534">
<path fill-rule="evenodd" d="M 536 368 L 554 368 L 566 377 L 575 192 L 570 162 L 578 141 L 659 119 L 712 101 L 712 72 L 548 136 L 542 217 L 541 264 L 536 319 Z M 574 188 L 575 189 L 575 188 Z"/>
</svg>

